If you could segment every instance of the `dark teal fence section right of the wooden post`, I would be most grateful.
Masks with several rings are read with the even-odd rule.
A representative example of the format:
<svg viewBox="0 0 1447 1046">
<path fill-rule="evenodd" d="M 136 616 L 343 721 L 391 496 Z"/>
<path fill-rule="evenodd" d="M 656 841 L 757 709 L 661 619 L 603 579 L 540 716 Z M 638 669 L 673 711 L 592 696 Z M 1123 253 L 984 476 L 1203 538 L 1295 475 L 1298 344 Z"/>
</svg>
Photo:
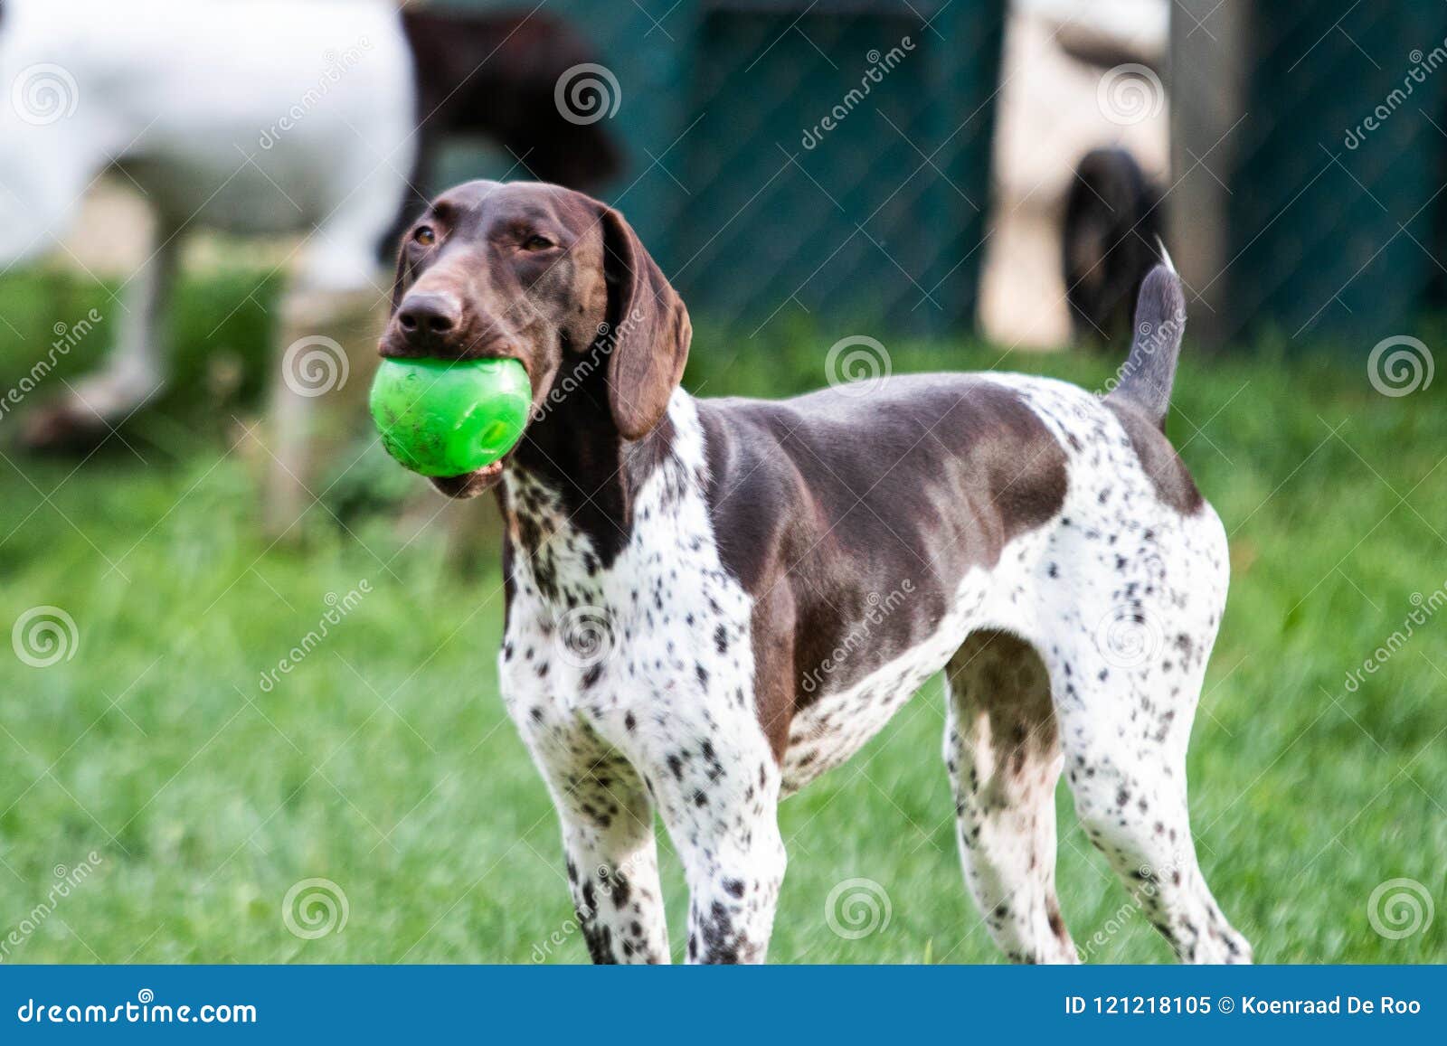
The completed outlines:
<svg viewBox="0 0 1447 1046">
<path fill-rule="evenodd" d="M 1272 4 L 1239 36 L 1234 130 L 1204 161 L 1230 187 L 1220 331 L 1269 326 L 1299 350 L 1408 328 L 1447 288 L 1447 7 Z"/>
</svg>

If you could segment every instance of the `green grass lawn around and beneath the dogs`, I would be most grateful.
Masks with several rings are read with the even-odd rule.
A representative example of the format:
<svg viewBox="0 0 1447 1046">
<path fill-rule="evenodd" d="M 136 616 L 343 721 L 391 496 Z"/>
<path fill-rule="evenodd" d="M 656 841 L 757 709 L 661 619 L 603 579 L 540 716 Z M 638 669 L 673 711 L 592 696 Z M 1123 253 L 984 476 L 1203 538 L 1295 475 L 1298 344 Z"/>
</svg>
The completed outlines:
<svg viewBox="0 0 1447 1046">
<path fill-rule="evenodd" d="M 0 285 L 7 386 L 55 312 L 106 304 L 61 288 L 62 307 L 41 308 L 27 281 Z M 216 327 L 226 289 L 192 289 L 182 315 L 195 380 L 177 402 L 192 418 L 246 417 L 253 402 L 256 382 L 207 379 L 213 356 L 255 359 L 265 339 L 259 305 Z M 705 331 L 689 382 L 705 395 L 819 385 L 845 333 Z M 896 372 L 1003 367 L 1090 386 L 1117 362 L 888 349 Z M 1441 383 L 1386 398 L 1357 362 L 1187 352 L 1172 435 L 1234 561 L 1191 751 L 1207 878 L 1260 961 L 1447 961 L 1447 608 L 1346 686 L 1447 583 Z M 0 420 L 0 440 L 12 428 Z M 0 625 L 56 606 L 78 635 L 51 667 L 0 657 L 0 961 L 585 961 L 556 820 L 498 697 L 496 566 L 459 576 L 438 540 L 407 543 L 376 512 L 349 532 L 317 509 L 305 551 L 269 548 L 224 425 L 198 440 L 184 411 L 162 411 L 140 428 L 136 453 L 78 469 L 0 443 Z M 263 686 L 352 590 L 324 642 Z M 1000 961 L 958 867 L 942 720 L 932 681 L 851 764 L 784 803 L 774 961 Z M 1100 933 L 1094 961 L 1166 961 L 1064 786 L 1059 809 L 1077 943 Z M 677 956 L 686 897 L 663 846 Z M 88 878 L 52 907 L 56 877 L 82 865 Z M 287 929 L 284 898 L 307 878 L 344 893 L 344 929 Z M 831 890 L 851 878 L 888 898 L 887 924 L 860 939 L 826 922 Z M 1396 878 L 1435 909 L 1402 937 L 1369 919 L 1373 891 Z"/>
</svg>

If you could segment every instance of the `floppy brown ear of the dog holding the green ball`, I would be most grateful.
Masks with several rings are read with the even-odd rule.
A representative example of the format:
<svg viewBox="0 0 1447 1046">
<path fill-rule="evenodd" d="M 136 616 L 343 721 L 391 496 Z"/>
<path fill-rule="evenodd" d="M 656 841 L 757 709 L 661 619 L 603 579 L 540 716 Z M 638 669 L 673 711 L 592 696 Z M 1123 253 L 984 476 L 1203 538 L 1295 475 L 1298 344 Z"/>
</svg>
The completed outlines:
<svg viewBox="0 0 1447 1046">
<path fill-rule="evenodd" d="M 608 281 L 611 346 L 608 405 L 625 440 L 653 430 L 683 378 L 693 324 L 683 299 L 644 250 L 622 214 L 603 208 L 603 275 Z"/>
</svg>

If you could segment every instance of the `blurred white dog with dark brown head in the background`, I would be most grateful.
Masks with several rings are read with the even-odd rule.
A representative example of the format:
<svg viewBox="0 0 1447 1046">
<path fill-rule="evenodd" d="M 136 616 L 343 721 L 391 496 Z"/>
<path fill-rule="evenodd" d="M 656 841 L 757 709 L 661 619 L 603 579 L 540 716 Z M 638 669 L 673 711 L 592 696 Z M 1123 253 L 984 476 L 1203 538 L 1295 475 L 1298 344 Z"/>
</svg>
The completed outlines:
<svg viewBox="0 0 1447 1046">
<path fill-rule="evenodd" d="M 402 13 L 386 0 L 0 0 L 0 266 L 54 247 L 109 169 L 156 218 L 124 281 L 113 354 L 32 411 L 25 441 L 98 443 L 165 388 L 161 323 L 192 229 L 305 233 L 281 344 L 362 341 L 369 357 L 391 292 L 378 247 L 425 204 L 428 187 L 411 185 L 428 177 L 438 133 L 492 136 L 524 177 L 586 187 L 616 169 L 602 130 L 554 104 L 560 75 L 587 58 L 546 17 Z M 326 369 L 315 353 L 311 363 Z M 307 503 L 315 386 L 275 388 L 266 508 L 285 528 Z"/>
</svg>

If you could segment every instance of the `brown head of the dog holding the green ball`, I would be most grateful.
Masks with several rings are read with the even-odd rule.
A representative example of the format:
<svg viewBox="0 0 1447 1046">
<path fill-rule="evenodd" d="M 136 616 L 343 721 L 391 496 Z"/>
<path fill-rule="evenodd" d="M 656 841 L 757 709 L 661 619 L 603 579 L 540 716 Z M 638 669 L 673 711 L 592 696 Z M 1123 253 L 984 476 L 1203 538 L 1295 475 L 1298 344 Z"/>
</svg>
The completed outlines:
<svg viewBox="0 0 1447 1046">
<path fill-rule="evenodd" d="M 690 336 L 683 301 L 622 214 L 559 185 L 476 181 L 402 234 L 381 353 L 515 359 L 532 383 L 530 431 L 566 424 L 554 415 L 573 396 L 601 396 L 616 435 L 638 440 L 663 418 Z M 505 462 L 436 483 L 472 496 Z"/>
</svg>

